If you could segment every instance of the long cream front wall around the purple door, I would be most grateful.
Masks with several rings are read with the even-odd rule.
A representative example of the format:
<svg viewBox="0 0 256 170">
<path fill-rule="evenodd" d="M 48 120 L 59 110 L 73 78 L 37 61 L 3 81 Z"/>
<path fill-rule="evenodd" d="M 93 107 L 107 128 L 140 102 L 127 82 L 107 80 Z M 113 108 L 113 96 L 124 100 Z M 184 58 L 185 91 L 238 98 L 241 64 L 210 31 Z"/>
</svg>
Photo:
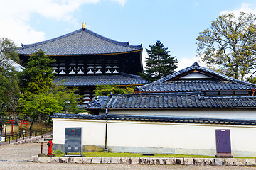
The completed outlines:
<svg viewBox="0 0 256 170">
<path fill-rule="evenodd" d="M 53 143 L 64 144 L 65 128 L 82 127 L 82 145 L 105 146 L 104 120 L 53 119 Z M 233 156 L 256 157 L 256 127 L 108 120 L 112 152 L 215 155 L 215 130 L 229 129 Z"/>
</svg>

